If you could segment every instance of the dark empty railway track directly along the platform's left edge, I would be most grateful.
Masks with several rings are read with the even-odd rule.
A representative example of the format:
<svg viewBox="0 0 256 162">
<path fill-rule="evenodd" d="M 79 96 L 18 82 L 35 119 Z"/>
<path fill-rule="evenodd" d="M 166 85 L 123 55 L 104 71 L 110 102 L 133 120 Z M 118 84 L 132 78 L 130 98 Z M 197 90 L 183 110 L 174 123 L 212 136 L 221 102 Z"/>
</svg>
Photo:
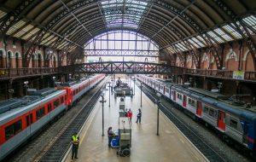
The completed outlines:
<svg viewBox="0 0 256 162">
<path fill-rule="evenodd" d="M 71 136 L 73 136 L 73 132 L 79 132 L 82 128 L 100 94 L 101 89 L 96 91 L 84 107 L 81 108 L 77 116 L 73 117 L 65 128 L 59 132 L 58 136 L 55 137 L 55 140 L 50 143 L 49 147 L 45 148 L 34 161 L 61 161 L 65 157 L 71 146 Z"/>
</svg>

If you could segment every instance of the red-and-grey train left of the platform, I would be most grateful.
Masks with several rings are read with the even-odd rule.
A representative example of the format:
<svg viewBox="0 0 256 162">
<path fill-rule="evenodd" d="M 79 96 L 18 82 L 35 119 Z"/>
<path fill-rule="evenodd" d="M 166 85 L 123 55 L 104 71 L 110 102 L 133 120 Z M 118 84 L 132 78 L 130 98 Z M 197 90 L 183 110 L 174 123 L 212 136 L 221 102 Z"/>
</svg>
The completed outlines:
<svg viewBox="0 0 256 162">
<path fill-rule="evenodd" d="M 0 161 L 71 108 L 104 77 L 104 74 L 97 74 L 0 102 Z"/>
</svg>

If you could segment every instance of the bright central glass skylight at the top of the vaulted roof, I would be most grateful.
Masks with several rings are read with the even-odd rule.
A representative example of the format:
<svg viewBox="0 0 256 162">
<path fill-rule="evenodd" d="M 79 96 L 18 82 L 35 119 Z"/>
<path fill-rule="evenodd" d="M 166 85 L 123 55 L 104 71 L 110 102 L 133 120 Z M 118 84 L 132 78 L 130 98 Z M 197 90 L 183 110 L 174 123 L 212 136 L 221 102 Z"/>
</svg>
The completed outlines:
<svg viewBox="0 0 256 162">
<path fill-rule="evenodd" d="M 138 0 L 102 1 L 102 13 L 107 27 L 124 26 L 138 28 L 148 2 Z"/>
</svg>

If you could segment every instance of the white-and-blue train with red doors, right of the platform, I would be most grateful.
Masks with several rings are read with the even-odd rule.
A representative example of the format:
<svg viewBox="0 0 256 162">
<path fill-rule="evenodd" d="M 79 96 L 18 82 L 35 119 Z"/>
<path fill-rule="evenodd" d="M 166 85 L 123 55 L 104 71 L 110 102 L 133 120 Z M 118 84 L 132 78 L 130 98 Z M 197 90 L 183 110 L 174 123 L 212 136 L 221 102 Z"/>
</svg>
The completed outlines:
<svg viewBox="0 0 256 162">
<path fill-rule="evenodd" d="M 224 139 L 232 139 L 255 156 L 256 107 L 208 90 L 166 83 L 162 80 L 137 75 L 137 80 L 148 85 L 193 117 L 211 125 Z"/>
</svg>

